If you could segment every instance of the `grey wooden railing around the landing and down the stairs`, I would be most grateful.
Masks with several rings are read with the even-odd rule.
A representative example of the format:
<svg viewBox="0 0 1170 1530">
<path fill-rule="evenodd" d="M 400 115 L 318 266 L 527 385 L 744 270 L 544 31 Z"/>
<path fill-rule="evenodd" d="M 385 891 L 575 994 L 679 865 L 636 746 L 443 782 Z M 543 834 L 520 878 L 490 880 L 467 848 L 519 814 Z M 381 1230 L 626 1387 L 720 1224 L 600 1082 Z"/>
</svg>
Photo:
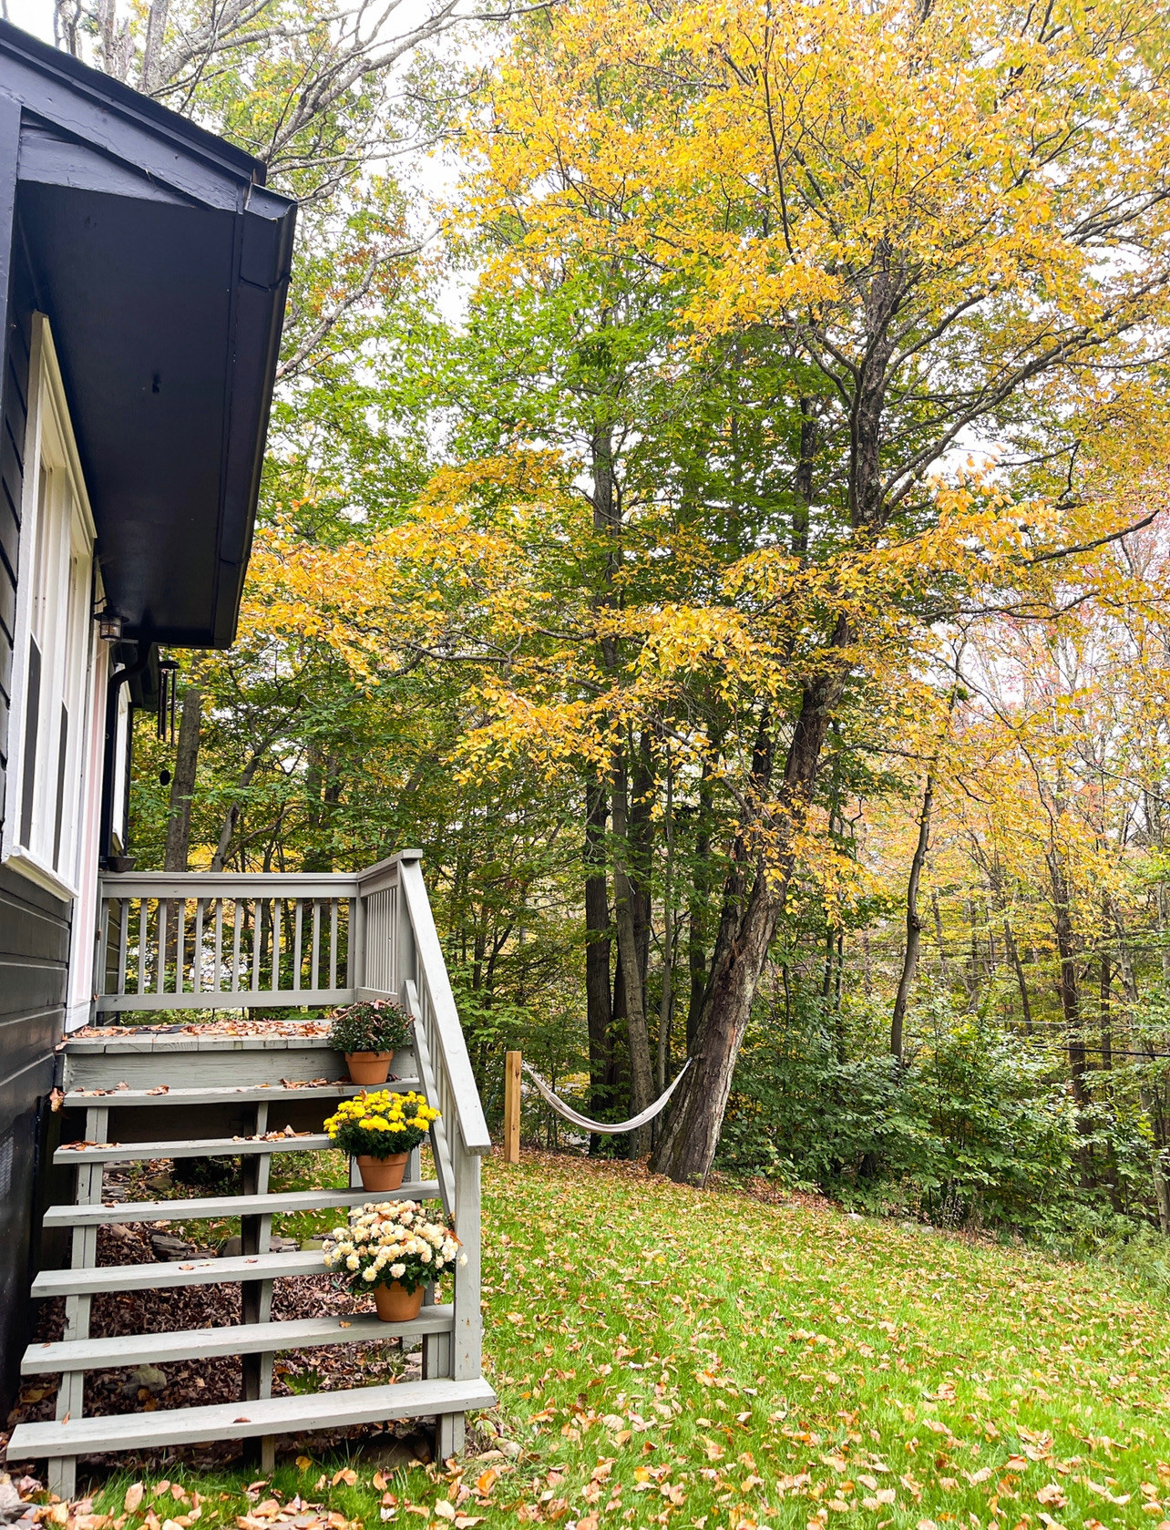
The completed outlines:
<svg viewBox="0 0 1170 1530">
<path fill-rule="evenodd" d="M 96 1011 L 321 1008 L 393 998 L 414 1019 L 436 1178 L 463 1244 L 450 1353 L 431 1374 L 480 1374 L 480 1157 L 488 1125 L 418 851 L 349 874 L 150 872 L 101 880 Z M 462 1441 L 444 1440 L 445 1450 Z"/>
</svg>

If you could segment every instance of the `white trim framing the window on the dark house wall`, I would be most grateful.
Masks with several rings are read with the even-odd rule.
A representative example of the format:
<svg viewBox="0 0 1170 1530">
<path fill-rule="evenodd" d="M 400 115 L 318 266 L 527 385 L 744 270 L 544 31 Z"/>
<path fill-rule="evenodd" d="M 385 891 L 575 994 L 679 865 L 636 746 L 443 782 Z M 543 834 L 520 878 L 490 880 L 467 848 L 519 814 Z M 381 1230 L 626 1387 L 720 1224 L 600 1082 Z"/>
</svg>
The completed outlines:
<svg viewBox="0 0 1170 1530">
<path fill-rule="evenodd" d="M 49 320 L 44 314 L 32 315 L 32 355 L 29 364 L 29 410 L 24 425 L 24 483 L 21 491 L 21 514 L 20 514 L 20 554 L 17 565 L 17 612 L 15 612 L 15 644 L 12 653 L 12 704 L 11 704 L 11 734 L 9 734 L 9 750 L 8 750 L 8 803 L 9 811 L 6 812 L 6 822 L 3 829 L 3 843 L 0 845 L 0 863 L 28 877 L 29 881 L 37 883 L 46 892 L 63 901 L 70 901 L 76 898 L 80 892 L 80 884 L 75 880 L 63 877 L 60 872 L 47 866 L 34 851 L 28 846 L 18 843 L 20 834 L 20 803 L 23 802 L 24 793 L 24 722 L 26 722 L 26 693 L 28 693 L 28 672 L 29 672 L 29 641 L 32 635 L 32 598 L 34 598 L 34 572 L 32 560 L 37 546 L 37 520 L 38 520 L 38 490 L 41 477 L 41 445 L 44 436 L 44 421 L 46 415 L 50 416 L 55 427 L 57 438 L 61 444 L 64 454 L 64 471 L 69 476 L 69 485 L 73 493 L 73 502 L 81 519 L 81 526 L 84 536 L 89 539 L 90 545 L 90 560 L 93 566 L 93 583 L 95 592 L 101 592 L 101 574 L 96 569 L 96 558 L 93 554 L 93 543 L 96 540 L 96 529 L 93 525 L 93 513 L 89 503 L 89 494 L 86 493 L 86 479 L 81 471 L 81 461 L 78 457 L 76 441 L 73 439 L 73 427 L 69 419 L 69 405 L 66 402 L 64 386 L 61 382 L 61 369 L 57 363 L 57 350 L 54 347 L 52 332 L 49 329 Z M 92 734 L 92 718 L 90 705 L 93 696 L 93 664 L 96 659 L 96 650 L 99 644 L 96 643 L 95 626 L 92 621 L 86 623 L 84 633 L 84 670 L 81 679 L 81 696 L 84 704 L 83 716 L 78 719 L 80 728 L 76 737 L 80 741 L 80 767 L 81 767 L 81 796 L 78 800 L 78 814 L 73 825 L 73 840 L 75 846 L 78 843 L 78 835 L 83 832 L 84 826 L 84 800 L 87 796 L 87 785 L 90 771 L 101 768 L 99 759 L 92 759 L 90 734 Z M 106 646 L 101 644 L 104 649 Z M 84 866 L 76 866 L 75 872 L 80 877 L 86 875 Z"/>
</svg>

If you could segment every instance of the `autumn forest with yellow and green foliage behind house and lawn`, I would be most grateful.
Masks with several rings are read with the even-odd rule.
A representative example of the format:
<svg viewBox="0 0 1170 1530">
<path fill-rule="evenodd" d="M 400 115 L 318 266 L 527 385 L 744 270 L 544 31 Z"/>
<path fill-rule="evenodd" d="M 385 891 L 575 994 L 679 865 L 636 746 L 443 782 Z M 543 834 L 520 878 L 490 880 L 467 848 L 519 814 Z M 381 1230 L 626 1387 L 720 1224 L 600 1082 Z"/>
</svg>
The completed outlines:
<svg viewBox="0 0 1170 1530">
<path fill-rule="evenodd" d="M 603 1118 L 691 1056 L 589 1151 L 1164 1247 L 1165 9 L 57 31 L 301 202 L 138 866 L 419 846 L 489 1117 L 509 1047 Z"/>
</svg>

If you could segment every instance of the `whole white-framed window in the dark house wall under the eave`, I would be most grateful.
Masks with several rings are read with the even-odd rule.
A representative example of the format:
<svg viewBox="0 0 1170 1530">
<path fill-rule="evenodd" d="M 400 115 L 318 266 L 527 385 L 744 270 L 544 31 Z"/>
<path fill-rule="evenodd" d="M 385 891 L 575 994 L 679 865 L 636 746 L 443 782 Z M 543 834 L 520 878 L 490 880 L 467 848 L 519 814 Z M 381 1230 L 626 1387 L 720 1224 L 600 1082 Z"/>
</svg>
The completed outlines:
<svg viewBox="0 0 1170 1530">
<path fill-rule="evenodd" d="M 58 897 L 72 897 L 92 762 L 93 522 L 41 315 L 32 379 L 17 569 L 15 811 L 5 825 L 5 858 Z"/>
</svg>

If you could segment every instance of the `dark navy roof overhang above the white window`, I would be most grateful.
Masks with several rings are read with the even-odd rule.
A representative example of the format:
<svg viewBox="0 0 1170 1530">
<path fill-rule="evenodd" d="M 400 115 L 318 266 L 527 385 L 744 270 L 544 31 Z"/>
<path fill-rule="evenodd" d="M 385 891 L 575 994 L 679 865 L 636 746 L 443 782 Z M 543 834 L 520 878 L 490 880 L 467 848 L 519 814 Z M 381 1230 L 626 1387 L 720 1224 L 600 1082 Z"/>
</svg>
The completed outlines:
<svg viewBox="0 0 1170 1530">
<path fill-rule="evenodd" d="M 17 237 L 52 326 L 107 601 L 127 636 L 226 647 L 295 205 L 249 155 L 6 23 L 0 95 L 20 104 Z"/>
</svg>

